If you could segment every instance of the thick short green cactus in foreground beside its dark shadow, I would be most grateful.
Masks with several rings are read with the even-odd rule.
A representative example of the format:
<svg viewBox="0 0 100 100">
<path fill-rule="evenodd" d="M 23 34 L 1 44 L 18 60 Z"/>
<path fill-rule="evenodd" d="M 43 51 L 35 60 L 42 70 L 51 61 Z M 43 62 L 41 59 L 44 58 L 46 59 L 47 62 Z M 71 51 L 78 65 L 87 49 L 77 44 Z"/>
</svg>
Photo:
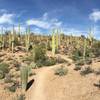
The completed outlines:
<svg viewBox="0 0 100 100">
<path fill-rule="evenodd" d="M 28 67 L 27 66 L 22 66 L 21 67 L 21 85 L 22 85 L 22 90 L 23 91 L 26 90 L 27 83 L 28 83 Z"/>
</svg>

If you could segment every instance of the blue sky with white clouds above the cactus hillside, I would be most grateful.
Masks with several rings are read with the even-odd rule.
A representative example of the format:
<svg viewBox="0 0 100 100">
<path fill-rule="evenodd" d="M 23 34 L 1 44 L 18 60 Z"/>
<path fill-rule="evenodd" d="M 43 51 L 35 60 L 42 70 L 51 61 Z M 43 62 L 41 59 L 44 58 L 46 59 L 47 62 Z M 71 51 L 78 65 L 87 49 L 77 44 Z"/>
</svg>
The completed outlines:
<svg viewBox="0 0 100 100">
<path fill-rule="evenodd" d="M 0 28 L 50 34 L 58 28 L 65 34 L 87 35 L 92 28 L 100 39 L 100 0 L 0 0 Z"/>
</svg>

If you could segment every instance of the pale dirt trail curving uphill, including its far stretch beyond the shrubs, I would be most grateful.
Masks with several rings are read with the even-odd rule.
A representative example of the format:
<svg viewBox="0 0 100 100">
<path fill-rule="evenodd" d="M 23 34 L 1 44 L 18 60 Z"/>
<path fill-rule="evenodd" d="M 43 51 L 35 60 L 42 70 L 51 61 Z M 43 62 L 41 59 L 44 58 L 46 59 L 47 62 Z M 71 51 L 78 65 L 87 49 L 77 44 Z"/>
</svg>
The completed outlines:
<svg viewBox="0 0 100 100">
<path fill-rule="evenodd" d="M 56 56 L 59 56 L 66 61 L 72 62 L 72 60 L 70 60 L 68 57 L 64 55 L 56 55 Z M 29 90 L 27 100 L 47 100 L 46 93 L 44 90 L 46 78 L 48 77 L 49 73 L 53 71 L 52 69 L 58 67 L 59 65 L 54 65 L 51 67 L 43 67 L 38 70 L 37 75 L 34 79 L 35 82 L 33 83 L 31 89 Z"/>
</svg>

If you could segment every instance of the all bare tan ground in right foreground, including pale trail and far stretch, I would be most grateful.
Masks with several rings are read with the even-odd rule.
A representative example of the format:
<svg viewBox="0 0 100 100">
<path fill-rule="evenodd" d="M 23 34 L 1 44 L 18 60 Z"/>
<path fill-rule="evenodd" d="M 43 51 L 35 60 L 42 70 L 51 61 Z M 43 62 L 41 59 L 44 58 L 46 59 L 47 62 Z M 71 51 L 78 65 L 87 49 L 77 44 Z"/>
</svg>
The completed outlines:
<svg viewBox="0 0 100 100">
<path fill-rule="evenodd" d="M 72 63 L 65 55 L 56 56 Z M 93 74 L 82 77 L 73 70 L 73 65 L 67 66 L 68 75 L 55 76 L 54 69 L 60 65 L 37 69 L 35 82 L 28 91 L 26 100 L 99 100 L 99 91 L 93 86 L 94 80 L 99 77 Z"/>
</svg>

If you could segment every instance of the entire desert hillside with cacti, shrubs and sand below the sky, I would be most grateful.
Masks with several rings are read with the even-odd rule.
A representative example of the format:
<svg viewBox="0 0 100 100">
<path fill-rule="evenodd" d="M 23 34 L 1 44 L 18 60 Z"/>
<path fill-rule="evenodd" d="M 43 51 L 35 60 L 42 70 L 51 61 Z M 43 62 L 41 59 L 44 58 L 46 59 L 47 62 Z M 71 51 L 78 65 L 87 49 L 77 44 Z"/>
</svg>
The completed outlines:
<svg viewBox="0 0 100 100">
<path fill-rule="evenodd" d="M 66 36 L 0 34 L 0 100 L 99 100 L 100 41 Z"/>
</svg>

